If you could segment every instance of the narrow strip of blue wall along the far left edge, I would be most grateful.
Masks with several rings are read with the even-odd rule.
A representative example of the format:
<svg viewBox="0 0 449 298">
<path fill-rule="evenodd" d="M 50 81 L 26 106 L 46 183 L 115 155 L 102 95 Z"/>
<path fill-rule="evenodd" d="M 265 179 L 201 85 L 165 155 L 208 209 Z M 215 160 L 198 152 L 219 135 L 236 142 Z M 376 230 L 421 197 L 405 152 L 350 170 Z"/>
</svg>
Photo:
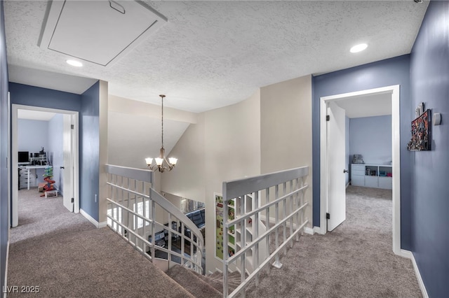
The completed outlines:
<svg viewBox="0 0 449 298">
<path fill-rule="evenodd" d="M 0 283 L 5 285 L 8 246 L 8 66 L 3 1 L 0 1 Z"/>
</svg>

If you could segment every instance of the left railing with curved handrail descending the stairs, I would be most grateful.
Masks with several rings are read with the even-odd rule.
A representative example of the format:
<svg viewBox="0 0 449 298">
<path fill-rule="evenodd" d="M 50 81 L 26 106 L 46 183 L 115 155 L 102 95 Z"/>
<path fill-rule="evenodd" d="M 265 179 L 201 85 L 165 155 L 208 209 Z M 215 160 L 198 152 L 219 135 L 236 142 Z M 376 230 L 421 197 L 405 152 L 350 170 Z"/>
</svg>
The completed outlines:
<svg viewBox="0 0 449 298">
<path fill-rule="evenodd" d="M 108 174 L 107 185 L 111 187 L 112 192 L 115 191 L 115 195 L 111 194 L 111 197 L 106 198 L 108 205 L 111 207 L 108 208 L 107 212 L 108 227 L 117 234 L 120 234 L 123 239 L 128 241 L 130 245 L 134 246 L 138 251 L 140 251 L 140 253 L 142 253 L 142 255 L 151 260 L 151 262 L 154 262 L 154 257 L 156 256 L 155 251 L 160 250 L 168 254 L 168 261 L 173 262 L 173 258 L 171 258 L 170 255 L 174 255 L 180 258 L 180 264 L 202 274 L 203 269 L 201 266 L 201 261 L 204 243 L 203 235 L 201 234 L 200 229 L 196 227 L 194 222 L 187 218 L 187 216 L 182 213 L 179 208 L 170 203 L 170 201 L 168 201 L 161 194 L 159 194 L 159 192 L 156 192 L 156 190 L 153 189 L 152 186 L 154 181 L 154 172 L 147 169 L 135 169 L 127 166 L 116 166 L 112 164 L 106 164 L 105 171 Z M 139 190 L 136 191 L 135 189 L 133 189 L 133 187 L 129 187 L 129 179 L 133 180 L 135 182 L 135 185 L 137 185 L 136 181 L 138 181 L 138 183 L 142 183 Z M 123 187 L 123 185 L 121 185 L 123 184 L 123 180 L 127 181 L 128 187 Z M 117 196 L 119 196 L 119 192 L 122 195 L 123 193 L 128 194 L 128 197 L 117 198 Z M 131 197 L 129 196 L 129 194 L 131 194 Z M 144 214 L 139 214 L 137 211 L 137 206 L 133 207 L 135 210 L 132 210 L 133 208 L 129 208 L 129 201 L 134 200 L 136 203 L 140 203 L 137 198 L 141 198 L 142 203 L 143 201 L 145 201 L 145 205 L 147 202 L 151 203 L 149 204 L 149 214 L 147 214 L 146 211 L 143 211 Z M 126 201 L 126 199 L 128 201 L 128 206 L 121 204 L 123 201 Z M 157 204 L 168 213 L 168 226 L 156 221 L 156 216 L 154 213 L 156 209 L 155 204 Z M 146 206 L 142 204 L 142 209 L 144 208 L 146 208 Z M 119 211 L 121 211 L 121 213 L 126 213 L 128 220 L 123 220 L 121 216 L 118 215 Z M 176 222 L 180 223 L 180 231 L 177 231 L 177 229 L 173 229 L 173 227 L 170 225 L 170 222 L 172 222 L 172 216 L 176 218 Z M 137 230 L 142 229 L 141 233 L 134 231 L 135 226 L 130 227 L 130 225 L 126 224 L 126 221 L 128 221 L 128 223 L 130 222 L 129 218 L 131 217 L 135 218 L 135 220 L 133 220 L 133 225 L 135 225 L 139 220 L 142 222 L 142 228 L 137 228 Z M 149 229 L 151 231 L 150 234 L 152 236 L 152 239 L 154 239 L 152 240 L 152 242 L 150 242 L 149 239 L 145 239 L 145 234 L 147 234 L 147 226 L 149 226 Z M 156 244 L 156 227 L 159 227 L 160 229 L 162 229 L 162 231 L 168 231 L 168 248 L 164 248 Z M 190 230 L 190 237 L 186 235 L 185 229 Z M 133 241 L 130 240 L 131 235 L 133 237 Z M 180 253 L 172 250 L 172 236 L 178 236 L 181 239 Z M 185 241 L 191 243 L 190 257 L 185 254 Z M 138 243 L 141 243 L 142 247 L 140 247 Z M 145 246 L 148 246 L 150 248 L 151 256 L 147 254 Z"/>
</svg>

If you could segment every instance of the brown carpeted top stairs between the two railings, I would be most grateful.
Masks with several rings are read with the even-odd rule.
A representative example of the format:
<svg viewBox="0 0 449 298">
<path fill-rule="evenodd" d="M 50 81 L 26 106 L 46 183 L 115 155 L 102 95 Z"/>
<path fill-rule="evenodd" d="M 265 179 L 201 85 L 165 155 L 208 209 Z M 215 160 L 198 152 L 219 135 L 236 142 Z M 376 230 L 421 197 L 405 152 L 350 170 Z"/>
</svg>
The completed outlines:
<svg viewBox="0 0 449 298">
<path fill-rule="evenodd" d="M 223 297 L 223 274 L 218 271 L 210 276 L 203 276 L 181 265 L 175 265 L 167 271 L 167 275 L 196 298 Z M 228 292 L 240 285 L 239 272 L 229 274 L 228 285 Z"/>
</svg>

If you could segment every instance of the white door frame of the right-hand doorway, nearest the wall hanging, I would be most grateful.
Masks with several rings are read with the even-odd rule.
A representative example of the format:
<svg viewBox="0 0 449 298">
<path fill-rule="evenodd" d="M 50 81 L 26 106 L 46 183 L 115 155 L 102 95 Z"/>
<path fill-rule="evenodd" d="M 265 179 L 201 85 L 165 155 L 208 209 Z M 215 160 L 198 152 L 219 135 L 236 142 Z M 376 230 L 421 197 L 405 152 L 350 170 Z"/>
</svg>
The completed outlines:
<svg viewBox="0 0 449 298">
<path fill-rule="evenodd" d="M 392 169 L 393 169 L 393 252 L 401 255 L 401 115 L 400 115 L 400 86 L 387 87 L 336 94 L 320 97 L 320 234 L 326 234 L 327 220 L 326 209 L 328 204 L 328 159 L 327 159 L 327 125 L 326 106 L 329 101 L 339 101 L 348 97 L 358 97 L 367 94 L 389 93 L 391 94 L 391 141 L 392 141 Z"/>
</svg>

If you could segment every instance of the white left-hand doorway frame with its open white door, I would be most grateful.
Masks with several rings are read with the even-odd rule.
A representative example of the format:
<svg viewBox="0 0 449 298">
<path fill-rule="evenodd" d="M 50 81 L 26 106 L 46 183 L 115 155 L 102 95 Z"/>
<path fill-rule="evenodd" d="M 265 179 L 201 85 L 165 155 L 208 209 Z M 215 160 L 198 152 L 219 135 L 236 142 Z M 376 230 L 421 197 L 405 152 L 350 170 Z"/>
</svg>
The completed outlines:
<svg viewBox="0 0 449 298">
<path fill-rule="evenodd" d="M 63 202 L 69 211 L 79 212 L 79 115 L 76 111 L 58 110 L 53 108 L 40 108 L 35 106 L 12 105 L 11 109 L 11 137 L 12 137 L 12 197 L 11 197 L 11 226 L 18 226 L 18 113 L 19 111 L 34 111 L 62 114 L 62 176 L 65 178 Z M 47 132 L 44 132 L 47 133 Z"/>
</svg>

